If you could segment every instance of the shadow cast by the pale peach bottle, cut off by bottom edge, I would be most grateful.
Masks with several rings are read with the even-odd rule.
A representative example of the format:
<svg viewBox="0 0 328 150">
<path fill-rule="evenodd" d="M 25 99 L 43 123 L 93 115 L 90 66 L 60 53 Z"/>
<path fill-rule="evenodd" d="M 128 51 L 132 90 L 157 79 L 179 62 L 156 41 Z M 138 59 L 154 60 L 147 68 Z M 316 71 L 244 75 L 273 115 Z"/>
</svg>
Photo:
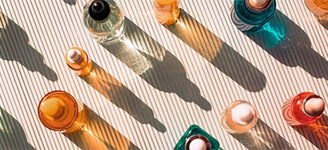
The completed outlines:
<svg viewBox="0 0 328 150">
<path fill-rule="evenodd" d="M 295 149 L 260 119 L 250 131 L 231 135 L 248 149 Z"/>
</svg>

